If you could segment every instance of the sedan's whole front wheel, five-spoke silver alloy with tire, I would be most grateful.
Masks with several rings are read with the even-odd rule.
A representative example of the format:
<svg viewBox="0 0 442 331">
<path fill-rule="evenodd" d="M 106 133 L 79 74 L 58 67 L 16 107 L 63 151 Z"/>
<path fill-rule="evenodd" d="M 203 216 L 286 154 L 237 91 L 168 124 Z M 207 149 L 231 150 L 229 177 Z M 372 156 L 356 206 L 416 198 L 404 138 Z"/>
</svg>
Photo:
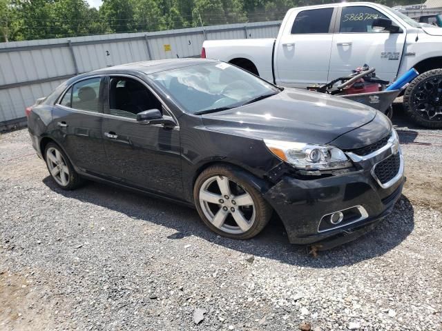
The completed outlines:
<svg viewBox="0 0 442 331">
<path fill-rule="evenodd" d="M 267 225 L 271 208 L 235 172 L 222 165 L 204 170 L 195 183 L 195 205 L 214 232 L 233 239 L 249 239 Z"/>
</svg>

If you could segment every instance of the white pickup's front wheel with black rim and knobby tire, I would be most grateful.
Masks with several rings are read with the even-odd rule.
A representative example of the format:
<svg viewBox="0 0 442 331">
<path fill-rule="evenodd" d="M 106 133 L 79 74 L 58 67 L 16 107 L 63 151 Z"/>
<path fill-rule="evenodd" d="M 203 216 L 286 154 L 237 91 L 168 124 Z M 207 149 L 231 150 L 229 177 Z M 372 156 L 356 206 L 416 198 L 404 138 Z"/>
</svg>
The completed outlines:
<svg viewBox="0 0 442 331">
<path fill-rule="evenodd" d="M 416 77 L 405 90 L 403 107 L 420 126 L 442 128 L 442 69 Z"/>
</svg>

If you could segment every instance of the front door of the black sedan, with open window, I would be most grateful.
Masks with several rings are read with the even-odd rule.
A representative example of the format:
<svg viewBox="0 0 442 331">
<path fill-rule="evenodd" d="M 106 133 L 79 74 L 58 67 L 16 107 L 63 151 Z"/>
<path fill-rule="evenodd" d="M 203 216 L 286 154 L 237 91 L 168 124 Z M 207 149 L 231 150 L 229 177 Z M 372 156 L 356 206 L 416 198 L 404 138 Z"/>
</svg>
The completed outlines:
<svg viewBox="0 0 442 331">
<path fill-rule="evenodd" d="M 109 77 L 102 137 L 106 172 L 140 188 L 170 196 L 182 194 L 180 128 L 137 123 L 136 114 L 158 109 L 168 114 L 144 83 Z"/>
</svg>

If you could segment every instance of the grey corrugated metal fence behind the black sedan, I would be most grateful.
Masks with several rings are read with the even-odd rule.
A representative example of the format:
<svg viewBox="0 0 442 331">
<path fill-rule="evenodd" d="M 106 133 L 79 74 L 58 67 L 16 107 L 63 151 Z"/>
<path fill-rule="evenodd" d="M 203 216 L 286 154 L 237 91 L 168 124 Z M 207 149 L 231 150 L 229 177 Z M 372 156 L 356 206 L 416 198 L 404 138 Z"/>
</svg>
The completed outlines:
<svg viewBox="0 0 442 331">
<path fill-rule="evenodd" d="M 270 21 L 0 43 L 0 130 L 26 122 L 26 106 L 76 74 L 149 59 L 198 57 L 205 39 L 273 38 L 279 26 L 280 21 Z"/>
</svg>

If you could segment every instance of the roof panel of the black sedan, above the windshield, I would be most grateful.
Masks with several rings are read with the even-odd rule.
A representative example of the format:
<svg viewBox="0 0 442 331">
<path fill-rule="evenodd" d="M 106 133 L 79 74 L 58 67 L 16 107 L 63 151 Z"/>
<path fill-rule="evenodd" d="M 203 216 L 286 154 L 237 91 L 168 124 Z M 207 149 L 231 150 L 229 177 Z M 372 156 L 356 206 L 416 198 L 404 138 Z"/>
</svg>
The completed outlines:
<svg viewBox="0 0 442 331">
<path fill-rule="evenodd" d="M 129 72 L 137 71 L 144 72 L 145 74 L 153 74 L 154 72 L 161 72 L 165 70 L 172 70 L 177 68 L 184 68 L 189 66 L 196 66 L 203 63 L 213 63 L 217 62 L 215 60 L 209 59 L 198 59 L 198 58 L 188 58 L 188 59 L 165 59 L 165 60 L 153 60 L 153 61 L 140 61 L 134 63 L 121 64 L 119 66 L 113 66 L 108 68 L 103 68 L 90 72 L 91 74 L 100 73 L 112 73 L 112 72 Z"/>
</svg>

